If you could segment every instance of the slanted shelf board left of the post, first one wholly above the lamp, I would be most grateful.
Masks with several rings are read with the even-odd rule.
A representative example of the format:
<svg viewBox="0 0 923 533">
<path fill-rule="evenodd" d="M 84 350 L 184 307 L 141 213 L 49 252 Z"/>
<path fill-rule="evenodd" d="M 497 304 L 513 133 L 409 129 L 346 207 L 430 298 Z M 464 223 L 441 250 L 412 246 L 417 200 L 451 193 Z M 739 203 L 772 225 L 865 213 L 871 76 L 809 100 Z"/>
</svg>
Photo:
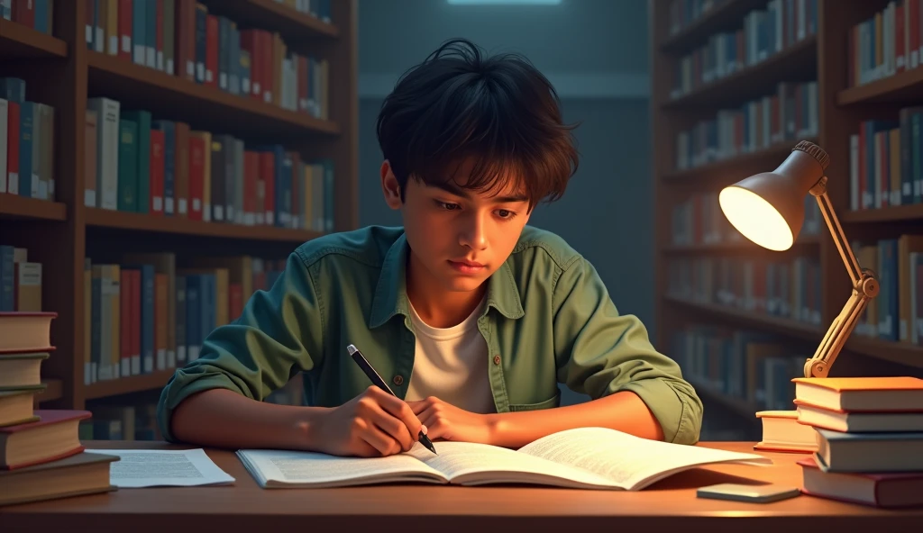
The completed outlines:
<svg viewBox="0 0 923 533">
<path fill-rule="evenodd" d="M 756 65 L 745 66 L 734 74 L 692 89 L 666 101 L 664 109 L 684 107 L 726 107 L 733 101 L 748 101 L 775 90 L 780 81 L 803 81 L 817 71 L 817 37 L 808 36 Z"/>
</svg>

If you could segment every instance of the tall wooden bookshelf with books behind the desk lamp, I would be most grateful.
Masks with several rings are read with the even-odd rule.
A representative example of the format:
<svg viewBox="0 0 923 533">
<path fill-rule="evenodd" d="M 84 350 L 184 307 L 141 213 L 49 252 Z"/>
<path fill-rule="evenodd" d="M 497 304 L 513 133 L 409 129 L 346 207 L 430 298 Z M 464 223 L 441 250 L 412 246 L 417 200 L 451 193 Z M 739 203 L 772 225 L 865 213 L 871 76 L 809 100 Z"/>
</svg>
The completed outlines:
<svg viewBox="0 0 923 533">
<path fill-rule="evenodd" d="M 759 438 L 755 411 L 793 409 L 786 394 L 794 391 L 784 382 L 801 374 L 798 361 L 813 354 L 850 291 L 822 219 L 813 227 L 806 223 L 791 250 L 773 253 L 738 239 L 725 227 L 714 199 L 727 184 L 771 172 L 799 140 L 815 142 L 830 154 L 828 194 L 846 237 L 863 267 L 878 273 L 882 290 L 896 288 L 894 302 L 880 296 L 875 311 L 869 305 L 832 375 L 923 375 L 923 343 L 910 338 L 912 333 L 901 338 L 897 332 L 908 315 L 895 311 L 896 302 L 914 294 L 905 285 L 914 276 L 900 280 L 892 272 L 907 256 L 879 260 L 888 257 L 882 252 L 885 242 L 923 234 L 918 192 L 909 200 L 905 193 L 903 201 L 888 201 L 907 186 L 918 187 L 914 182 L 923 176 L 895 165 L 905 163 L 881 158 L 869 175 L 858 163 L 861 152 L 869 164 L 869 150 L 858 148 L 862 141 L 857 140 L 879 142 L 869 140 L 879 130 L 865 125 L 877 120 L 892 122 L 881 126 L 886 130 L 881 145 L 867 145 L 872 150 L 917 143 L 912 130 L 893 130 L 900 129 L 901 110 L 920 105 L 923 94 L 918 60 L 923 53 L 917 65 L 911 65 L 909 53 L 900 67 L 897 60 L 904 50 L 920 52 L 920 7 L 918 0 L 649 2 L 653 188 L 663 213 L 655 228 L 655 342 L 696 384 L 706 419 L 723 421 L 744 438 Z M 871 53 L 857 55 L 856 42 Z M 735 64 L 737 52 L 743 56 Z M 780 89 L 784 82 L 788 86 Z M 794 89 L 808 83 L 815 86 L 807 95 Z M 787 127 L 793 121 L 795 127 Z M 688 135 L 681 136 L 684 132 Z M 886 140 L 889 144 L 883 144 Z M 881 153 L 901 157 L 896 151 Z M 912 163 L 918 153 L 919 148 L 910 148 L 905 157 Z M 910 177 L 892 167 L 910 169 Z M 902 178 L 910 184 L 903 185 Z M 863 191 L 874 205 L 857 206 Z M 884 200 L 876 203 L 876 193 Z M 693 200 L 697 196 L 705 199 Z M 684 229 L 690 220 L 692 229 Z M 691 234 L 693 242 L 677 243 L 677 234 Z M 863 255 L 861 248 L 867 249 Z M 798 283 L 799 290 L 790 283 Z M 911 330 L 917 324 L 914 313 Z M 761 355 L 754 345 L 777 349 Z M 773 363 L 765 360 L 773 358 L 779 361 L 770 368 Z M 759 390 L 761 401 L 754 400 L 750 386 Z"/>
</svg>

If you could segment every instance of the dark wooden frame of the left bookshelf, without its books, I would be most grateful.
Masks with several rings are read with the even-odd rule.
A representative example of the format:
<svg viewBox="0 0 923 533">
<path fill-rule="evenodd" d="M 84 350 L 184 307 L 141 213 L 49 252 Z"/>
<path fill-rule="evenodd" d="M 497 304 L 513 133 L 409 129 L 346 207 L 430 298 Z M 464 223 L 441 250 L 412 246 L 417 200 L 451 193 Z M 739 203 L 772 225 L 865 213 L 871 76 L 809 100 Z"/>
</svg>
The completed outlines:
<svg viewBox="0 0 923 533">
<path fill-rule="evenodd" d="M 123 110 L 146 110 L 153 120 L 183 122 L 192 130 L 234 136 L 245 147 L 278 145 L 306 163 L 330 160 L 334 179 L 328 208 L 332 214 L 329 222 L 321 224 L 328 224 L 326 231 L 354 229 L 358 224 L 357 7 L 356 0 L 332 0 L 330 21 L 325 21 L 306 12 L 309 5 L 318 8 L 320 3 L 315 0 L 198 2 L 210 15 L 234 21 L 237 30 L 266 30 L 280 38 L 288 52 L 326 60 L 327 101 L 320 114 L 190 80 L 179 75 L 178 67 L 171 74 L 139 65 L 130 57 L 94 50 L 87 41 L 88 35 L 95 35 L 88 14 L 99 0 L 51 1 L 52 29 L 48 32 L 0 18 L 2 77 L 24 80 L 27 100 L 54 108 L 54 195 L 40 199 L 0 194 L 0 244 L 27 248 L 29 260 L 42 264 L 42 310 L 58 314 L 52 324 L 55 350 L 42 364 L 42 379 L 48 387 L 36 402 L 55 409 L 95 412 L 98 407 L 119 406 L 123 397 L 155 395 L 174 369 L 85 383 L 86 257 L 92 256 L 94 264 L 98 257 L 101 263 L 118 263 L 122 253 L 173 253 L 178 269 L 181 257 L 253 255 L 278 265 L 296 246 L 325 231 L 294 221 L 287 226 L 207 221 L 177 212 L 155 215 L 88 205 L 86 185 L 95 180 L 85 172 L 88 100 L 109 98 Z M 178 8 L 180 2 L 175 0 L 174 6 Z M 107 3 L 114 4 L 126 3 Z M 296 5 L 302 9 L 296 10 Z M 161 50 L 162 44 L 157 46 Z M 282 55 L 272 59 L 282 60 Z"/>
</svg>

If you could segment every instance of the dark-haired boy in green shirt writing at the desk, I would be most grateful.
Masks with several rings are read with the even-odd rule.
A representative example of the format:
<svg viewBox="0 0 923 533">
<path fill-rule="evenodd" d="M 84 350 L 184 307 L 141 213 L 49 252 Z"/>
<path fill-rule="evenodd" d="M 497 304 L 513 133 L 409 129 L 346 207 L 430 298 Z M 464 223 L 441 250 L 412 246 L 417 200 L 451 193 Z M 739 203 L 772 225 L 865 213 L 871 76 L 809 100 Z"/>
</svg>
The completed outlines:
<svg viewBox="0 0 923 533">
<path fill-rule="evenodd" d="M 166 385 L 164 437 L 340 456 L 397 454 L 420 431 L 508 447 L 579 426 L 697 442 L 701 401 L 677 364 L 586 259 L 526 226 L 577 168 L 570 130 L 528 61 L 443 44 L 378 116 L 381 186 L 403 226 L 298 247 Z M 261 401 L 296 373 L 310 407 Z M 558 407 L 558 383 L 593 399 Z"/>
</svg>

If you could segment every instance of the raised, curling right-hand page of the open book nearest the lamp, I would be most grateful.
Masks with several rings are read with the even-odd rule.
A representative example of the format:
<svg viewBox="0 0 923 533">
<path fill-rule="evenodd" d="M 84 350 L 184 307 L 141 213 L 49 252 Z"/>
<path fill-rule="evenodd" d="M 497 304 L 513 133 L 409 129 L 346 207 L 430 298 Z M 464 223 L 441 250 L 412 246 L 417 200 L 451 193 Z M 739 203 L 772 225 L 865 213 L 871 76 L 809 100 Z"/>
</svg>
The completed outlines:
<svg viewBox="0 0 923 533">
<path fill-rule="evenodd" d="M 772 464 L 772 460 L 757 454 L 652 441 L 607 428 L 557 432 L 522 446 L 517 453 L 582 468 L 631 491 L 677 471 L 706 464 Z"/>
</svg>

